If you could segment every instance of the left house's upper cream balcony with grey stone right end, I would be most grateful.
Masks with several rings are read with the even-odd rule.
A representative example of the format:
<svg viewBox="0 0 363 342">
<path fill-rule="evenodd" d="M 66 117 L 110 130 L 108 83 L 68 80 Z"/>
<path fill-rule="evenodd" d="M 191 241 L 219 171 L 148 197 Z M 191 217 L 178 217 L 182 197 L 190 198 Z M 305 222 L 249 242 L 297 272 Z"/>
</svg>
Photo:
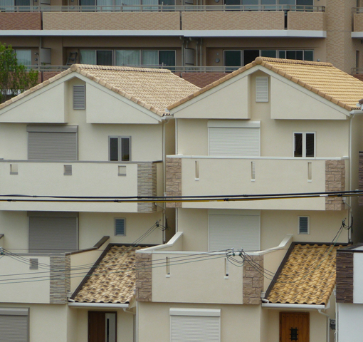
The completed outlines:
<svg viewBox="0 0 363 342">
<path fill-rule="evenodd" d="M 32 202 L 31 199 L 1 202 L 1 210 L 155 212 L 157 207 L 153 203 L 119 203 L 112 197 L 162 195 L 162 162 L 3 160 L 0 175 L 1 195 L 98 197 L 98 200 L 83 203 L 77 199 L 73 199 L 75 202 L 61 202 L 61 199 L 56 202 Z M 100 197 L 111 197 L 110 202 Z"/>
</svg>

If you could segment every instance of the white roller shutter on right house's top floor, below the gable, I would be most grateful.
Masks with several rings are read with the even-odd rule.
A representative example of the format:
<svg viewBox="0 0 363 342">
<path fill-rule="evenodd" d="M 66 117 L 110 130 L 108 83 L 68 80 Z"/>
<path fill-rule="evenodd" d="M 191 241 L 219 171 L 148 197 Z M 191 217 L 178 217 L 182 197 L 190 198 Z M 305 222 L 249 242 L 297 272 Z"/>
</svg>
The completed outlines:
<svg viewBox="0 0 363 342">
<path fill-rule="evenodd" d="M 260 155 L 260 128 L 209 128 L 209 155 Z"/>
</svg>

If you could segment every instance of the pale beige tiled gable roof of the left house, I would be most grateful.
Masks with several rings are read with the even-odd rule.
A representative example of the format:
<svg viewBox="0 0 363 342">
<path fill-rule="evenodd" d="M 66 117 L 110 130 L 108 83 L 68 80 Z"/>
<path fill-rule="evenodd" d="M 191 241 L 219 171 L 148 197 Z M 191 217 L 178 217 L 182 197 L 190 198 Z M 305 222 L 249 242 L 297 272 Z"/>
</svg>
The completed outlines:
<svg viewBox="0 0 363 342">
<path fill-rule="evenodd" d="M 48 81 L 0 104 L 0 109 L 73 72 L 80 73 L 160 116 L 167 115 L 165 108 L 168 105 L 200 89 L 166 69 L 73 64 Z"/>
</svg>

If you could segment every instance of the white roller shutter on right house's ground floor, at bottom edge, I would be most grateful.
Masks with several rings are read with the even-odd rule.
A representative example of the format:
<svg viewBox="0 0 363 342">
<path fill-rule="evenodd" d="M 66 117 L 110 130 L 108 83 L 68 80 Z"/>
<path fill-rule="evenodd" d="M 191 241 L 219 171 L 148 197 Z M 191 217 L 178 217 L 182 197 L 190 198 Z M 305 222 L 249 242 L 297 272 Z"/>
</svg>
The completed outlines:
<svg viewBox="0 0 363 342">
<path fill-rule="evenodd" d="M 220 342 L 221 309 L 170 308 L 171 342 Z"/>
</svg>

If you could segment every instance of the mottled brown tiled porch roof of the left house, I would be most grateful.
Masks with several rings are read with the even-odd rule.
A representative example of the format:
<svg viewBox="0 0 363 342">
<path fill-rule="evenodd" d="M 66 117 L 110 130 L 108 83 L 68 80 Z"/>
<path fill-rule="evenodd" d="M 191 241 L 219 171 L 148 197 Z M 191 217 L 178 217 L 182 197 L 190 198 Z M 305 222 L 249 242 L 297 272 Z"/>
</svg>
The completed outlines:
<svg viewBox="0 0 363 342">
<path fill-rule="evenodd" d="M 142 247 L 112 246 L 94 266 L 75 294 L 81 303 L 130 303 L 135 296 L 135 250 Z"/>
</svg>

